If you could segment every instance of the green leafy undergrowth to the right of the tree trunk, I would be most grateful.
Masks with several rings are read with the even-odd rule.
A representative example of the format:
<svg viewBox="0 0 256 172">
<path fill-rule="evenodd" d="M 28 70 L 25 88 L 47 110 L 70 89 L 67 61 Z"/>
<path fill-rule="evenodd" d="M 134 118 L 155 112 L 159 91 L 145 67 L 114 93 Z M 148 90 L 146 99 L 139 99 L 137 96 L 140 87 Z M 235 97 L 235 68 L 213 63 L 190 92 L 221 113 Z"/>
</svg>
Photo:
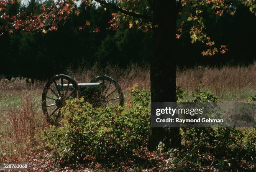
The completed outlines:
<svg viewBox="0 0 256 172">
<path fill-rule="evenodd" d="M 194 102 L 217 102 L 218 98 L 209 91 L 201 92 L 199 84 Z M 254 128 L 182 128 L 182 139 L 187 153 L 184 159 L 194 165 L 209 163 L 208 169 L 251 170 L 255 163 L 256 136 Z M 236 158 L 234 158 L 236 157 Z M 184 169 L 185 170 L 185 169 Z"/>
</svg>

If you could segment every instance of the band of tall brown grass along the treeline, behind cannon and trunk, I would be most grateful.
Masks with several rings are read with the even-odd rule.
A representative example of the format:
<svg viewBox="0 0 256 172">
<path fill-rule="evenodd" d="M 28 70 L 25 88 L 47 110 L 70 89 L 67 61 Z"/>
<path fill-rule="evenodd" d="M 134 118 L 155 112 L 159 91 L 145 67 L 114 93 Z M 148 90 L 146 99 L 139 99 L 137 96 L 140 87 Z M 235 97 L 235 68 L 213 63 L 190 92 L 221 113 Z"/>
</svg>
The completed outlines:
<svg viewBox="0 0 256 172">
<path fill-rule="evenodd" d="M 78 83 L 90 82 L 92 78 L 100 75 L 108 75 L 118 80 L 123 89 L 138 83 L 139 89 L 150 89 L 150 69 L 148 65 L 138 66 L 131 64 L 127 68 L 108 65 L 101 68 L 97 64 L 92 68 L 81 68 L 79 70 L 68 70 L 65 72 L 72 76 Z M 251 66 L 223 66 L 202 67 L 177 69 L 177 86 L 183 90 L 191 92 L 202 83 L 205 90 L 212 91 L 217 96 L 233 94 L 255 94 L 256 88 L 256 62 Z M 41 90 L 45 81 L 35 81 L 33 84 L 27 84 L 26 78 L 12 78 L 0 80 L 0 91 L 17 91 L 17 90 Z M 239 93 L 240 91 L 240 93 Z"/>
</svg>

